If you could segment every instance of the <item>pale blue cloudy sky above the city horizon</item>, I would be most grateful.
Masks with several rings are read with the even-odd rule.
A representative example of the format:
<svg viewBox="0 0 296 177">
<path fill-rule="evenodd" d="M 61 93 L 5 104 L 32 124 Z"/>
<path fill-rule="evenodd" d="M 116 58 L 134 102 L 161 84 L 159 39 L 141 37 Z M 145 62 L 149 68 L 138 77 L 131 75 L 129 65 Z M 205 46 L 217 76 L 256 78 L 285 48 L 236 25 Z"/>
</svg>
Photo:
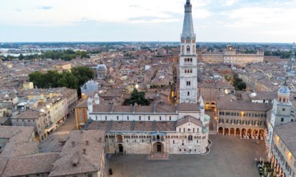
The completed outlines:
<svg viewBox="0 0 296 177">
<path fill-rule="evenodd" d="M 180 41 L 186 0 L 1 0 L 0 42 Z M 191 0 L 197 42 L 296 41 L 296 0 Z"/>
</svg>

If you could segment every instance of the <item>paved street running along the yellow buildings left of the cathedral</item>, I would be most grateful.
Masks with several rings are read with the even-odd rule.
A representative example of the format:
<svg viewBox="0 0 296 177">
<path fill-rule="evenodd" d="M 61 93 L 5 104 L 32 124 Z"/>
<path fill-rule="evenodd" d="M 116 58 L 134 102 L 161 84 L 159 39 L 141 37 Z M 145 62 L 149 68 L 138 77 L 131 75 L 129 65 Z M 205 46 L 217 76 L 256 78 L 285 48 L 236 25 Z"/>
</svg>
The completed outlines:
<svg viewBox="0 0 296 177">
<path fill-rule="evenodd" d="M 71 113 L 69 118 L 66 119 L 63 125 L 59 126 L 53 133 L 49 136 L 49 138 L 44 139 L 40 143 L 41 151 L 42 152 L 51 152 L 58 147 L 61 147 L 61 144 L 58 143 L 58 139 L 66 138 L 70 131 L 76 129 L 75 127 L 75 114 Z"/>
</svg>

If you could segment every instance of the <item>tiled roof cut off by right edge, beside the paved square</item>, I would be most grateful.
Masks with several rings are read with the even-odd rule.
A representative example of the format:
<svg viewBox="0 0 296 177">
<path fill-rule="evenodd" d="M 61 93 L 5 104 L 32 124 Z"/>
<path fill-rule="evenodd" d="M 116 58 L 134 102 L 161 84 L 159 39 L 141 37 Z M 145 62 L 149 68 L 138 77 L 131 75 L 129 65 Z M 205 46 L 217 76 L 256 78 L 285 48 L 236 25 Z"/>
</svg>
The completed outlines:
<svg viewBox="0 0 296 177">
<path fill-rule="evenodd" d="M 288 150 L 296 157 L 296 122 L 276 126 L 274 130 Z"/>
</svg>

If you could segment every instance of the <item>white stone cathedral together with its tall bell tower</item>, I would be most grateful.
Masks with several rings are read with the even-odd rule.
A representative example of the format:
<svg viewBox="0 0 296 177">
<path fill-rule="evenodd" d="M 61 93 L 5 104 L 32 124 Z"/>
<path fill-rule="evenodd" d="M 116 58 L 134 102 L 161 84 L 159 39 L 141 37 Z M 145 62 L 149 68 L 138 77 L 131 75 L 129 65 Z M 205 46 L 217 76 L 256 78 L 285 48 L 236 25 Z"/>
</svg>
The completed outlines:
<svg viewBox="0 0 296 177">
<path fill-rule="evenodd" d="M 150 105 L 100 105 L 87 100 L 87 129 L 104 130 L 105 152 L 121 154 L 203 154 L 209 152 L 209 119 L 197 96 L 197 53 L 192 4 L 185 4 L 180 39 L 180 103 L 154 100 Z"/>
</svg>

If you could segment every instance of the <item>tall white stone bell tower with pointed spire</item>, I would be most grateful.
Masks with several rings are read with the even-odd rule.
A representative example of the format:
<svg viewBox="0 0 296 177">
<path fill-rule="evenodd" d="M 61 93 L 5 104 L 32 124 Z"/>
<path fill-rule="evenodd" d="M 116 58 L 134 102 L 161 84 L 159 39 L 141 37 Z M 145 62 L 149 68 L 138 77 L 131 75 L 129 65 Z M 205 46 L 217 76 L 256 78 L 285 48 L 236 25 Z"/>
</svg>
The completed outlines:
<svg viewBox="0 0 296 177">
<path fill-rule="evenodd" d="M 197 54 L 192 22 L 192 4 L 185 4 L 180 44 L 180 103 L 197 103 Z"/>
</svg>

